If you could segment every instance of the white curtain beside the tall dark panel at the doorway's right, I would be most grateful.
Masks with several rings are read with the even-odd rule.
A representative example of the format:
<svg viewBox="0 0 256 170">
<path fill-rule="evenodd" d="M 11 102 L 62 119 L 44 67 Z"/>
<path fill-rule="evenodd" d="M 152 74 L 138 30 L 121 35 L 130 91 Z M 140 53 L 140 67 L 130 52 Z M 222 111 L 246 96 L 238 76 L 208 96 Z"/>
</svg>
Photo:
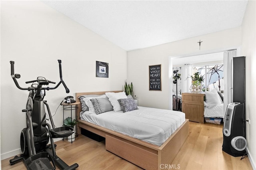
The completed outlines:
<svg viewBox="0 0 256 170">
<path fill-rule="evenodd" d="M 233 102 L 233 57 L 236 57 L 236 49 L 224 52 L 224 115 L 228 104 Z"/>
</svg>

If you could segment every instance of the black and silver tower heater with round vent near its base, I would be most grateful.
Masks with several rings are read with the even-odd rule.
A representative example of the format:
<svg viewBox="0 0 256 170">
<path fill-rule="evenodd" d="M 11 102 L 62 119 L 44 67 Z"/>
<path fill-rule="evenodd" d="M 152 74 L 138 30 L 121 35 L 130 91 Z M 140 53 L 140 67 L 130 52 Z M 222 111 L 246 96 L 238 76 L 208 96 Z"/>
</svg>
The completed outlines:
<svg viewBox="0 0 256 170">
<path fill-rule="evenodd" d="M 222 150 L 232 156 L 246 154 L 246 117 L 244 103 L 228 104 L 223 125 Z"/>
</svg>

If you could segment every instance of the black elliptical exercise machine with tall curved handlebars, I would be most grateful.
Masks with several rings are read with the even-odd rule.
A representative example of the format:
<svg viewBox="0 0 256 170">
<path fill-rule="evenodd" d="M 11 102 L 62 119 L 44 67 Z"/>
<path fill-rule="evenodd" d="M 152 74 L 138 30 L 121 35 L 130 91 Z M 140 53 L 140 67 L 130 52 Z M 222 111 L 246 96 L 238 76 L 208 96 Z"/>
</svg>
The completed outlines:
<svg viewBox="0 0 256 170">
<path fill-rule="evenodd" d="M 44 77 L 37 77 L 36 80 L 26 81 L 26 83 L 32 83 L 30 87 L 22 88 L 16 80 L 20 78 L 20 74 L 14 74 L 14 61 L 10 61 L 11 76 L 15 85 L 18 89 L 29 91 L 26 109 L 22 110 L 22 112 L 26 112 L 27 125 L 20 134 L 20 148 L 22 154 L 11 159 L 11 165 L 15 164 L 17 161 L 23 160 L 28 170 L 55 170 L 55 163 L 63 170 L 74 170 L 78 167 L 76 163 L 68 166 L 56 155 L 56 144 L 54 144 L 53 138 L 66 138 L 74 133 L 74 130 L 70 127 L 55 128 L 49 105 L 46 103 L 47 101 L 44 101 L 45 90 L 56 89 L 60 84 L 63 84 L 66 93 L 69 93 L 68 87 L 62 80 L 61 60 L 58 60 L 58 63 L 60 82 L 55 87 L 42 87 L 49 83 L 56 83 L 46 80 Z M 42 91 L 44 91 L 44 94 L 42 94 Z M 44 106 L 47 108 L 52 128 L 46 123 Z M 47 145 L 49 140 L 51 144 Z"/>
</svg>

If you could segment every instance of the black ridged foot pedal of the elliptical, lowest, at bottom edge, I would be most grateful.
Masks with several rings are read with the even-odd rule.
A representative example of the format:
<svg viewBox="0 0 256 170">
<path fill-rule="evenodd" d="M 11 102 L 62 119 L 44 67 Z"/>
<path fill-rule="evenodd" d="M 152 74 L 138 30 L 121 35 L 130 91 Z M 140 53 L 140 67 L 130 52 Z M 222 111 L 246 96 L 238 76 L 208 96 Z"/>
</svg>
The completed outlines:
<svg viewBox="0 0 256 170">
<path fill-rule="evenodd" d="M 30 170 L 54 170 L 48 158 L 38 158 L 28 165 Z"/>
</svg>

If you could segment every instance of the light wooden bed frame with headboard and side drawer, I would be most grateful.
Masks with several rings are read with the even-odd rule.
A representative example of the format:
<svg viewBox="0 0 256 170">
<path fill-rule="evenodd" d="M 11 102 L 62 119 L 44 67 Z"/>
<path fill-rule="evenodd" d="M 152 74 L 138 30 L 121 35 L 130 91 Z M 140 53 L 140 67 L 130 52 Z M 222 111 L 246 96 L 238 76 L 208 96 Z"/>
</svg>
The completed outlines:
<svg viewBox="0 0 256 170">
<path fill-rule="evenodd" d="M 110 92 L 117 93 L 121 91 Z M 76 101 L 80 101 L 80 99 L 78 99 L 80 95 L 102 95 L 105 93 L 106 91 L 76 93 Z M 157 146 L 98 125 L 82 121 L 80 119 L 81 111 L 82 108 L 80 104 L 78 105 L 77 110 L 77 119 L 79 121 L 77 128 L 78 134 L 81 134 L 81 128 L 84 128 L 104 137 L 106 139 L 106 150 L 146 170 L 161 170 L 166 165 L 169 167 L 189 133 L 188 119 L 186 119 L 186 121 L 162 144 L 162 146 Z"/>
</svg>

